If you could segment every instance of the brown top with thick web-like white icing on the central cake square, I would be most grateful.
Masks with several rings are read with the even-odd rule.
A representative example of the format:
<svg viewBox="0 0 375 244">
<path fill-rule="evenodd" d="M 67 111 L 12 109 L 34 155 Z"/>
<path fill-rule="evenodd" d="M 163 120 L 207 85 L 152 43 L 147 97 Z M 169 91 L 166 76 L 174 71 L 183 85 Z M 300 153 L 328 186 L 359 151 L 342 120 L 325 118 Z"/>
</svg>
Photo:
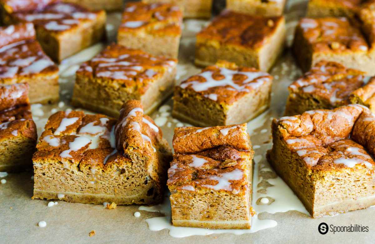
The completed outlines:
<svg viewBox="0 0 375 244">
<path fill-rule="evenodd" d="M 180 84 L 182 89 L 192 89 L 199 95 L 220 104 L 233 104 L 243 96 L 266 83 L 273 77 L 255 68 L 238 67 L 234 63 L 219 61 L 201 73 L 193 75 Z"/>
</svg>

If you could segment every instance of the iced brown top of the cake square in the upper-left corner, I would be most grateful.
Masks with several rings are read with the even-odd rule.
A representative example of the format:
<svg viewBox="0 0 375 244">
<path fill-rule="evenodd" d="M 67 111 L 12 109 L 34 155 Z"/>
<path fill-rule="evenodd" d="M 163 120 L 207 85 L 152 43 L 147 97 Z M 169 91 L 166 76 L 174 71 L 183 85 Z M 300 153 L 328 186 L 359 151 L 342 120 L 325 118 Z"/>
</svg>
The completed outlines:
<svg viewBox="0 0 375 244">
<path fill-rule="evenodd" d="M 104 13 L 104 11 L 89 11 L 73 3 L 57 2 L 42 10 L 17 12 L 12 14 L 12 17 L 19 21 L 32 22 L 47 31 L 65 32 L 87 21 L 95 20 L 100 13 Z"/>
</svg>

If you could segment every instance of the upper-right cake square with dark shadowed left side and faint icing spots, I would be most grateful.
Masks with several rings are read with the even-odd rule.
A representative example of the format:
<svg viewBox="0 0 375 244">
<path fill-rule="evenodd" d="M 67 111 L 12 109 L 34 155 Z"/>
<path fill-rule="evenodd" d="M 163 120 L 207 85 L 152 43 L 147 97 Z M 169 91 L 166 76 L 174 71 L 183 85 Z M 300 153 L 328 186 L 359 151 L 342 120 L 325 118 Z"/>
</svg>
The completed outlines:
<svg viewBox="0 0 375 244">
<path fill-rule="evenodd" d="M 361 28 L 347 18 L 303 18 L 296 27 L 293 53 L 303 71 L 321 60 L 374 75 L 374 60 Z"/>
</svg>

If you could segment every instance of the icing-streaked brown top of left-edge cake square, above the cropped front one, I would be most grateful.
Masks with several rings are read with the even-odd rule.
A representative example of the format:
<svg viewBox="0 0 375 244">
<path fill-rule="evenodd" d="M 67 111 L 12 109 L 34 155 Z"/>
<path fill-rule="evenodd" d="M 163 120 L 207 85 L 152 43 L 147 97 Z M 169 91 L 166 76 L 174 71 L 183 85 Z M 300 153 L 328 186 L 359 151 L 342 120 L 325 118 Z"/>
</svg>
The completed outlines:
<svg viewBox="0 0 375 244">
<path fill-rule="evenodd" d="M 42 47 L 32 38 L 34 34 L 31 33 L 34 31 L 31 27 L 32 24 L 28 23 L 0 29 L 0 37 L 9 37 L 8 44 L 0 48 L 0 83 L 3 79 L 58 71 L 55 63 L 43 53 Z M 24 30 L 30 33 L 21 34 Z M 12 36 L 15 42 L 12 42 Z M 25 39 L 21 40 L 18 36 L 24 36 Z"/>
</svg>

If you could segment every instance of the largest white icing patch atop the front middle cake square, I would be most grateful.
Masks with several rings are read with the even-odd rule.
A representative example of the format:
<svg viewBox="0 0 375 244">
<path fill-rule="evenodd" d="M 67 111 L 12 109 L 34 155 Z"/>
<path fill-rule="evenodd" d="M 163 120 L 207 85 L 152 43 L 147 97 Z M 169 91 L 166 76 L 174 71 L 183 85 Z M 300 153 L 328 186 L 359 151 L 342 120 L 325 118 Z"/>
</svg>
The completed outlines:
<svg viewBox="0 0 375 244">
<path fill-rule="evenodd" d="M 232 183 L 229 181 L 238 181 L 242 179 L 243 172 L 240 169 L 235 169 L 231 172 L 226 173 L 218 173 L 217 175 L 211 175 L 208 176 L 207 179 L 217 181 L 216 185 L 202 185 L 202 187 L 207 187 L 214 189 L 216 191 L 218 190 L 227 190 L 227 191 L 233 191 Z"/>
</svg>

